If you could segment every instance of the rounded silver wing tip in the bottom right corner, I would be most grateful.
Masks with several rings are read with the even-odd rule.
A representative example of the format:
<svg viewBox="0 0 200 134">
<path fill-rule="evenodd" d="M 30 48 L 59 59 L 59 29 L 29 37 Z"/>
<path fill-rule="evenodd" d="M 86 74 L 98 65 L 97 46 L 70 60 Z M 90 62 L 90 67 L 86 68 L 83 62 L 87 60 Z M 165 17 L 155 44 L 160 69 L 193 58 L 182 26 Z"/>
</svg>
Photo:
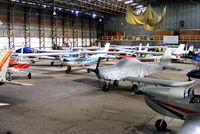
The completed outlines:
<svg viewBox="0 0 200 134">
<path fill-rule="evenodd" d="M 177 134 L 200 134 L 200 117 L 188 117 Z"/>
</svg>

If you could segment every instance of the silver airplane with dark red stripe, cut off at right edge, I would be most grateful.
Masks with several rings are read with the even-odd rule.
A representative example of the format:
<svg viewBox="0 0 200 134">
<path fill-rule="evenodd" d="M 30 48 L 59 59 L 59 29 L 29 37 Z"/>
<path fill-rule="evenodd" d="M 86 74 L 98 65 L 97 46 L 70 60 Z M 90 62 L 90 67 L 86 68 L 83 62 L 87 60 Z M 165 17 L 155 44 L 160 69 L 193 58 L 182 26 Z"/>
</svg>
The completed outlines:
<svg viewBox="0 0 200 134">
<path fill-rule="evenodd" d="M 158 87 L 141 89 L 147 105 L 164 116 L 184 120 L 178 134 L 200 134 L 200 95 L 199 83 L 189 87 Z M 165 131 L 164 119 L 155 122 L 158 131 Z"/>
</svg>

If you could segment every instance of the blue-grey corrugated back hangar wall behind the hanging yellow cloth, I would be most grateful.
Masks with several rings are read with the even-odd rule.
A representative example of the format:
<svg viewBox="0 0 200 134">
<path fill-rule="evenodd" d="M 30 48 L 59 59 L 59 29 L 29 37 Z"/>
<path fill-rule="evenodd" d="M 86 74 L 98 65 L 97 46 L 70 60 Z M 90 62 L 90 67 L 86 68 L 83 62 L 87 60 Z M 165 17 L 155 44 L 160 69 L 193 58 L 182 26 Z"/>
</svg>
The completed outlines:
<svg viewBox="0 0 200 134">
<path fill-rule="evenodd" d="M 159 6 L 158 6 L 159 5 Z M 156 12 L 161 13 L 165 4 L 152 4 Z M 162 30 L 179 29 L 200 29 L 200 2 L 189 3 L 189 1 L 168 1 L 167 15 L 162 24 Z M 180 27 L 180 21 L 184 21 L 184 26 Z M 105 31 L 120 31 L 125 35 L 152 35 L 153 31 L 147 31 L 141 26 L 133 26 L 126 22 L 125 15 L 111 17 L 104 21 Z M 130 42 L 129 42 L 130 43 Z"/>
</svg>

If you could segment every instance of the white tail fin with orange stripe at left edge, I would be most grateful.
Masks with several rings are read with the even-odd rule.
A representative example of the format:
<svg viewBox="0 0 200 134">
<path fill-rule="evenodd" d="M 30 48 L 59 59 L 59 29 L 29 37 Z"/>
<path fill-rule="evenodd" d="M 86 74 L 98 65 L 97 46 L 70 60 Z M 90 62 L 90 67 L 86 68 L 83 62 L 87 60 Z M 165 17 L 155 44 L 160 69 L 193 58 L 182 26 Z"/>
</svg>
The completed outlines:
<svg viewBox="0 0 200 134">
<path fill-rule="evenodd" d="M 0 52 L 0 81 L 5 81 L 6 72 L 8 69 L 8 64 L 10 60 L 10 56 L 12 54 L 12 50 L 2 50 Z"/>
</svg>

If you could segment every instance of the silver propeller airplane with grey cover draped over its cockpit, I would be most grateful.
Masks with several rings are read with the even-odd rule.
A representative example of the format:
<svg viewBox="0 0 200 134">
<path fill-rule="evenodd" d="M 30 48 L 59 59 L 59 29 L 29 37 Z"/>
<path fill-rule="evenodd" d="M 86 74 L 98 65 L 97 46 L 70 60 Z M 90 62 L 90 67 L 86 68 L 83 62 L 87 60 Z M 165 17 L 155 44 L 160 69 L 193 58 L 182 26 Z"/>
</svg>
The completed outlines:
<svg viewBox="0 0 200 134">
<path fill-rule="evenodd" d="M 181 70 L 180 68 L 168 65 L 169 59 L 171 58 L 171 49 L 166 49 L 163 58 L 161 59 L 159 64 L 147 64 L 140 62 L 136 58 L 124 58 L 119 60 L 113 65 L 99 67 L 100 60 L 99 58 L 96 68 L 87 68 L 90 71 L 95 72 L 98 79 L 104 80 L 104 85 L 102 87 L 103 91 L 109 91 L 111 86 L 111 82 L 113 81 L 113 86 L 116 87 L 119 84 L 120 80 L 127 80 L 131 82 L 138 83 L 148 83 L 154 85 L 162 85 L 162 86 L 186 86 L 195 83 L 195 81 L 189 82 L 178 82 L 178 81 L 169 81 L 169 80 L 160 80 L 153 78 L 144 78 L 150 74 L 161 72 L 165 69 L 171 70 Z M 133 92 L 138 90 L 138 85 L 133 84 L 132 86 Z"/>
</svg>

